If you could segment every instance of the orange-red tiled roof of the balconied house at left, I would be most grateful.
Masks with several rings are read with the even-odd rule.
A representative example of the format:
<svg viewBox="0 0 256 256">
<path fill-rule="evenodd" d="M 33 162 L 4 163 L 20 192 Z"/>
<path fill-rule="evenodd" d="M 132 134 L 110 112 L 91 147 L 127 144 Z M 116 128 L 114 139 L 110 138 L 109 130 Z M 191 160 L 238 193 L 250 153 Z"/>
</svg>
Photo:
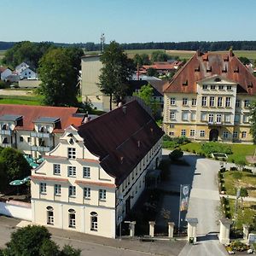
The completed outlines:
<svg viewBox="0 0 256 256">
<path fill-rule="evenodd" d="M 42 117 L 55 117 L 60 118 L 61 126 L 55 129 L 54 132 L 63 132 L 68 125 L 79 126 L 82 123 L 83 118 L 73 117 L 73 113 L 77 113 L 77 111 L 78 108 L 0 104 L 0 116 L 4 114 L 23 116 L 23 122 L 16 126 L 16 130 L 32 131 L 34 129 L 33 122 L 35 120 Z"/>
</svg>

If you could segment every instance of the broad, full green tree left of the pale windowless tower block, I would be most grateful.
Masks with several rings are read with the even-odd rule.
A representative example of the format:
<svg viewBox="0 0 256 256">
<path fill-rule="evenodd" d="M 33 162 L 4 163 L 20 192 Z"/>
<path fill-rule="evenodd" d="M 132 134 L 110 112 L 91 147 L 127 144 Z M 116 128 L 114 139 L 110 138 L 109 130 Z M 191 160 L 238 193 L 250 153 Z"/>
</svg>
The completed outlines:
<svg viewBox="0 0 256 256">
<path fill-rule="evenodd" d="M 44 104 L 76 106 L 79 87 L 79 61 L 82 52 L 76 49 L 50 49 L 39 61 L 39 92 Z"/>
</svg>

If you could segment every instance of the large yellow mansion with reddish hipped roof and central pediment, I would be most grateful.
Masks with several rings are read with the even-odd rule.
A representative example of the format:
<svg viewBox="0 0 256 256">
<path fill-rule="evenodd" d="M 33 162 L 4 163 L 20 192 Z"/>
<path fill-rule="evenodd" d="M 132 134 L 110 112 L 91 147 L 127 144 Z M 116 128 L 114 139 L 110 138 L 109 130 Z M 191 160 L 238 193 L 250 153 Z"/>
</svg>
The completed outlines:
<svg viewBox="0 0 256 256">
<path fill-rule="evenodd" d="M 256 78 L 230 52 L 196 54 L 164 90 L 164 131 L 197 141 L 251 143 Z"/>
</svg>

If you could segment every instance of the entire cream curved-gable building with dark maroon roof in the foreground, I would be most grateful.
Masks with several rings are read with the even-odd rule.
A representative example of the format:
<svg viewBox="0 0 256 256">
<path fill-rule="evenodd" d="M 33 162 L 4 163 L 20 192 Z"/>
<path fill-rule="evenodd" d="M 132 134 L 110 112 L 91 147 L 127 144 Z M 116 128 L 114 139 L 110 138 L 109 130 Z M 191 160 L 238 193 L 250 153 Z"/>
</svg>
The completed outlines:
<svg viewBox="0 0 256 256">
<path fill-rule="evenodd" d="M 32 171 L 33 223 L 115 238 L 161 160 L 162 135 L 137 102 L 67 127 Z"/>
</svg>

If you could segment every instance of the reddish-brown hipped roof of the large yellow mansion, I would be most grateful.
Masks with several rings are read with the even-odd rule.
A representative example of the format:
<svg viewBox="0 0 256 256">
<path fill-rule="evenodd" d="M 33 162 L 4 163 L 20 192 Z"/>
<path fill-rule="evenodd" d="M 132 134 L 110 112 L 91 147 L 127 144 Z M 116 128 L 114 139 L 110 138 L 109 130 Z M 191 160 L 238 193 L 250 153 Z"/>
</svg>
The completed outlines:
<svg viewBox="0 0 256 256">
<path fill-rule="evenodd" d="M 218 75 L 237 83 L 237 91 L 256 94 L 256 78 L 230 50 L 228 54 L 199 51 L 165 85 L 165 92 L 196 93 L 196 83 Z"/>
</svg>

